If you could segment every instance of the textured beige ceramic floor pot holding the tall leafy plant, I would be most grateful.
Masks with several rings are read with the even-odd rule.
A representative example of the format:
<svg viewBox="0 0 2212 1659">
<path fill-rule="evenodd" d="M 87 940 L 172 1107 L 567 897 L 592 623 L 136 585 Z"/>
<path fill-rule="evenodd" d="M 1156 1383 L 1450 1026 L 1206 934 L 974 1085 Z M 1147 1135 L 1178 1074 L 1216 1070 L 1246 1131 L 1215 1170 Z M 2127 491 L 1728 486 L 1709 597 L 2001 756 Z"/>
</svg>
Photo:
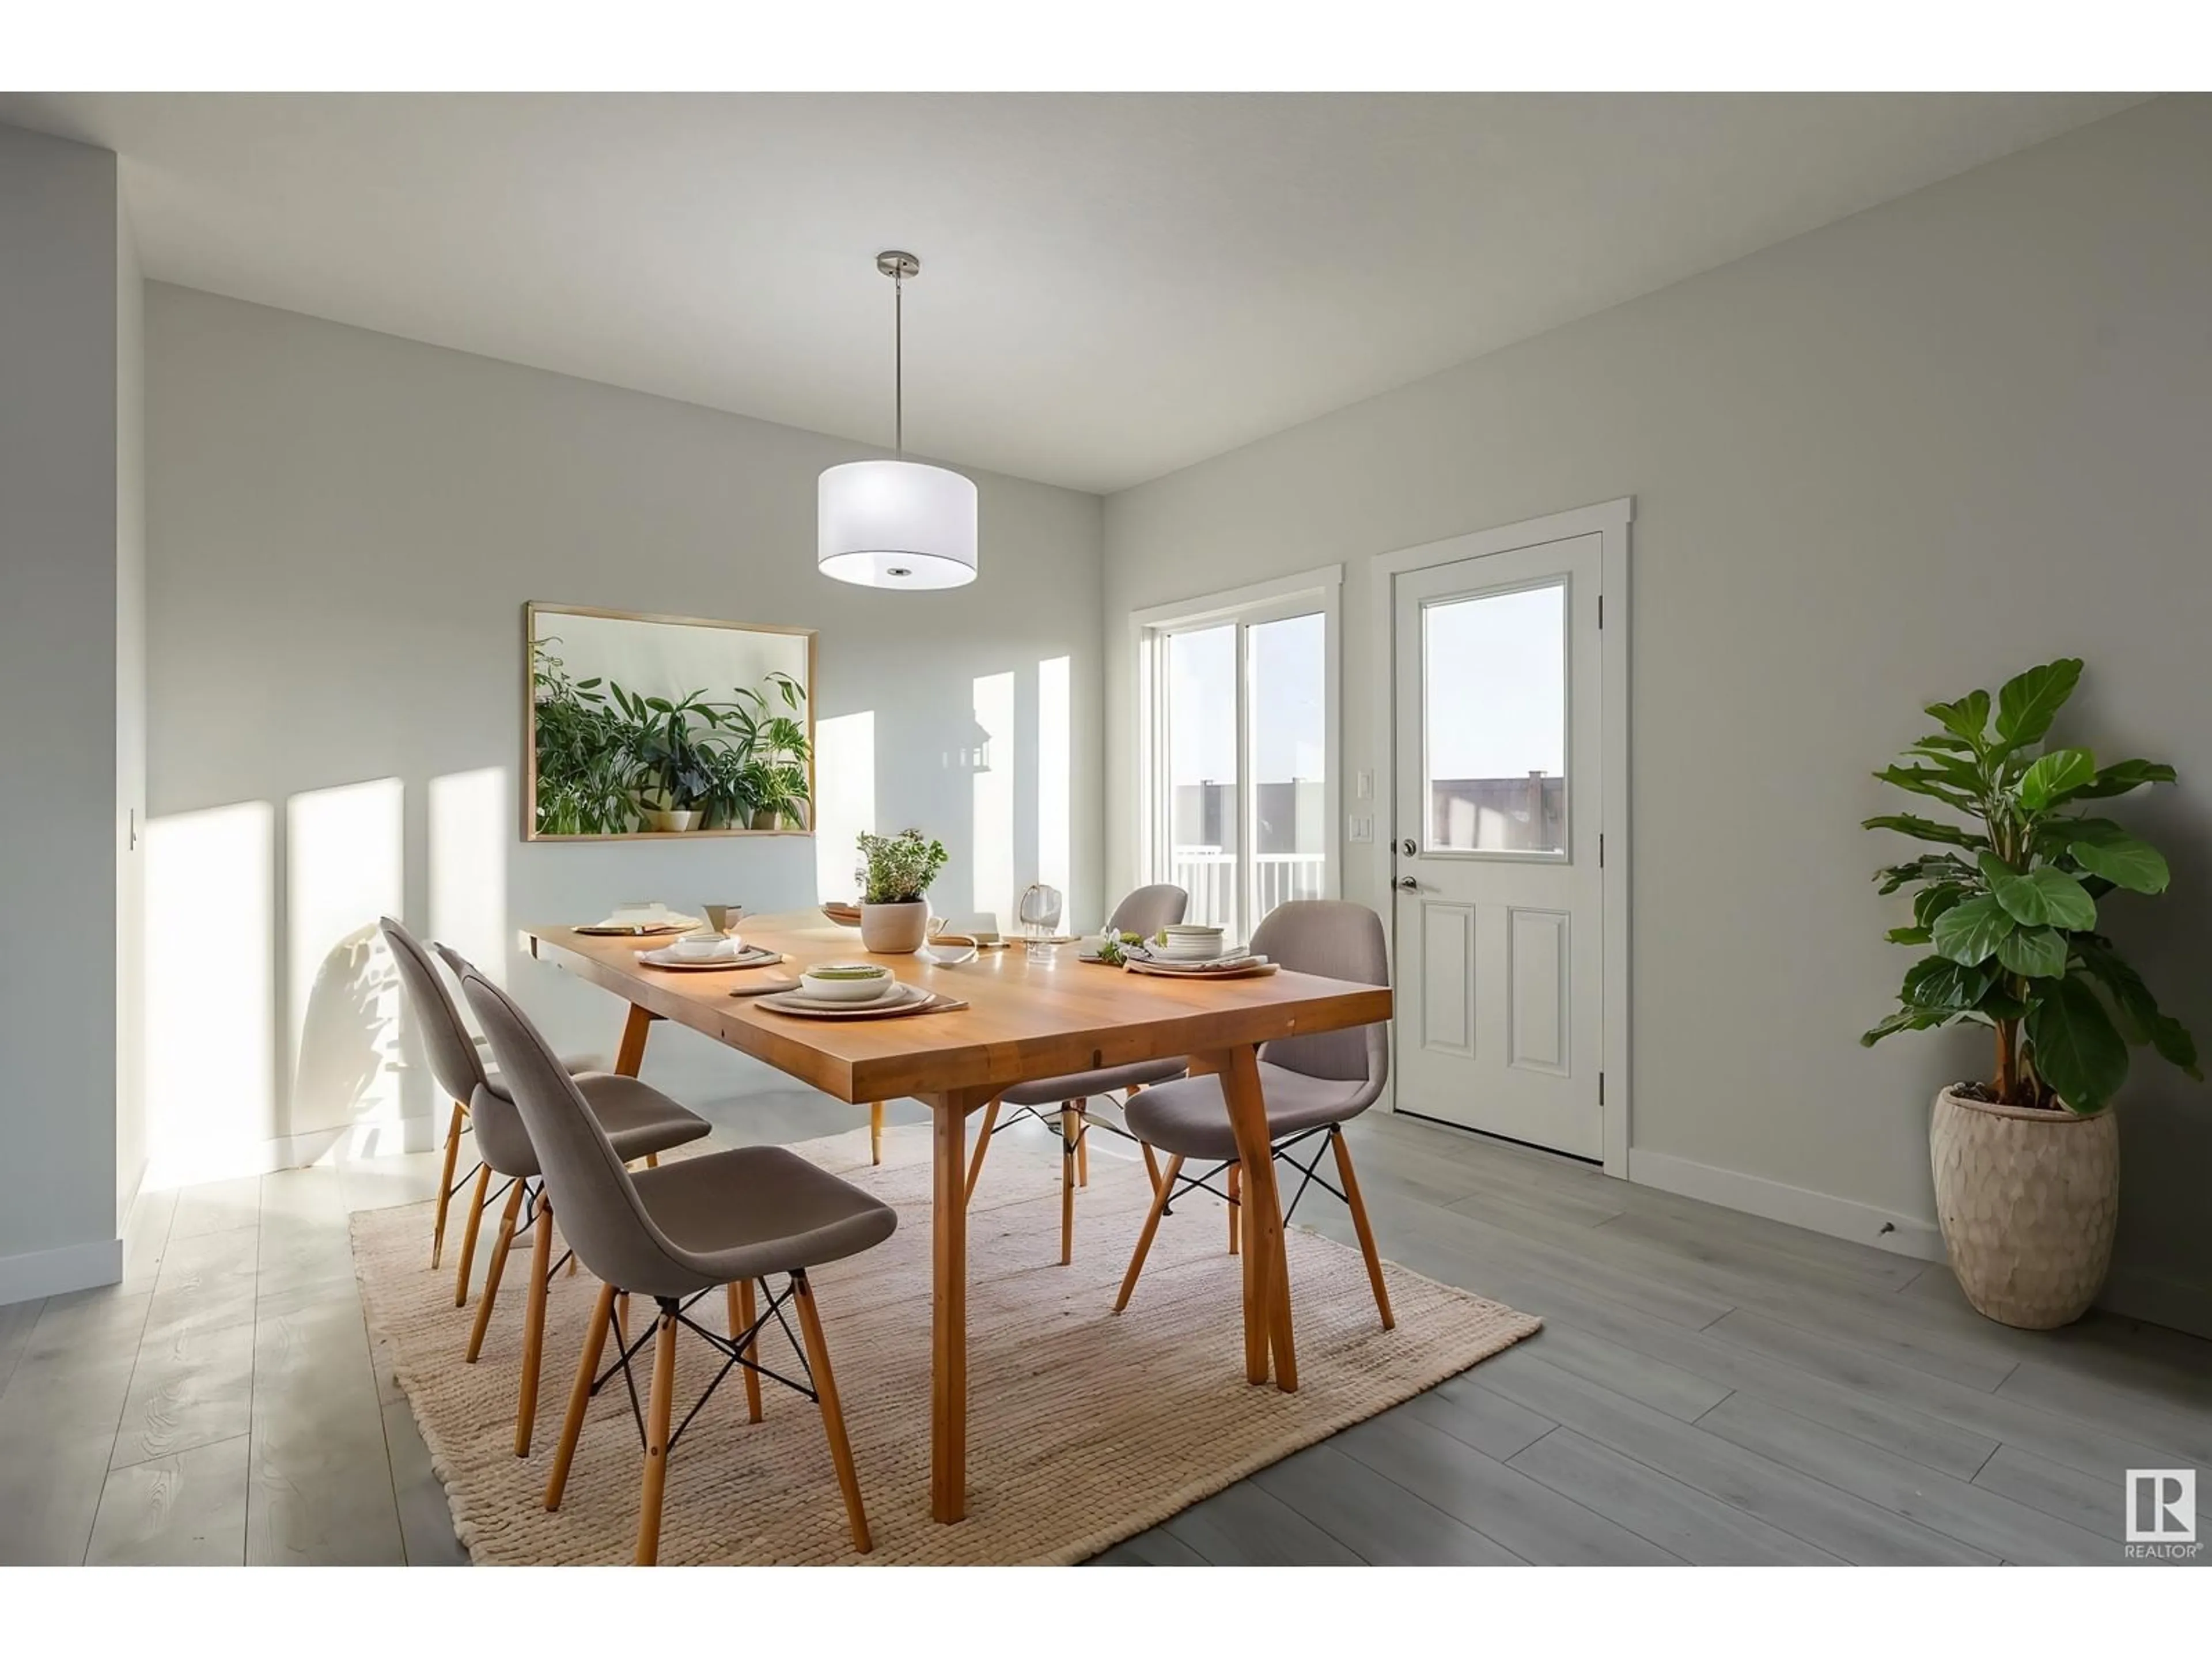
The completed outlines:
<svg viewBox="0 0 2212 1659">
<path fill-rule="evenodd" d="M 1980 1312 L 2031 1332 L 2070 1325 L 2104 1290 L 2119 1221 L 2119 1121 L 1936 1095 L 1936 1221 Z"/>
</svg>

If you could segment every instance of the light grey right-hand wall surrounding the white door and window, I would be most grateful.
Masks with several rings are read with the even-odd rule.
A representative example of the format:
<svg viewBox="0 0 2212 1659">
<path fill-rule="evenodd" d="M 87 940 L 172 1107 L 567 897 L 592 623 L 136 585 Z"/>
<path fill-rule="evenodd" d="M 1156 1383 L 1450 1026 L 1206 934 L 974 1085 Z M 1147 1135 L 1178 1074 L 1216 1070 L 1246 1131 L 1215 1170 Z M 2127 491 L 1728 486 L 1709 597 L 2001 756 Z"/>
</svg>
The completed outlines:
<svg viewBox="0 0 2212 1659">
<path fill-rule="evenodd" d="M 1929 1097 L 1986 1057 L 1858 1048 L 1909 956 L 1867 880 L 1898 845 L 1856 825 L 1898 810 L 1869 772 L 1922 701 L 2062 653 L 2088 659 L 2068 737 L 2181 770 L 2119 807 L 2174 887 L 2108 920 L 2212 1048 L 2208 177 L 2212 100 L 2166 97 L 1108 498 L 1108 885 L 1135 876 L 1128 611 L 1349 560 L 1345 765 L 1371 768 L 1365 555 L 1635 495 L 1646 1168 L 1931 1221 Z M 1345 891 L 1376 900 L 1376 865 Z M 2112 1298 L 2205 1329 L 2212 1095 L 2141 1055 L 2124 1133 Z"/>
</svg>

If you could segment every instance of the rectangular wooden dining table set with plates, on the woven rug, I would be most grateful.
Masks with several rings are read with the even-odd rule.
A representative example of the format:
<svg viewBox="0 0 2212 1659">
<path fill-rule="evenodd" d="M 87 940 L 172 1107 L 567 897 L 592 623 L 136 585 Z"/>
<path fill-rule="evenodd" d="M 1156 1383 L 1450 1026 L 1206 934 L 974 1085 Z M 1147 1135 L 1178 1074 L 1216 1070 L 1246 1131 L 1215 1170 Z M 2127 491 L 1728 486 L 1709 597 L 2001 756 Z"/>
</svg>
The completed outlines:
<svg viewBox="0 0 2212 1659">
<path fill-rule="evenodd" d="M 1170 980 L 1079 962 L 1075 947 L 1031 962 L 1015 942 L 973 962 L 936 967 L 918 956 L 865 956 L 854 929 L 814 911 L 748 918 L 748 945 L 783 956 L 770 969 L 655 969 L 637 960 L 661 940 L 524 929 L 533 956 L 630 1004 L 615 1071 L 637 1075 L 657 1020 L 690 1026 L 852 1104 L 911 1097 L 931 1110 L 931 1387 L 929 1509 L 967 1513 L 967 1119 L 1002 1091 L 1037 1077 L 1188 1057 L 1219 1073 L 1243 1166 L 1245 1380 L 1298 1387 L 1290 1323 L 1283 1210 L 1274 1183 L 1259 1044 L 1389 1020 L 1380 984 L 1270 973 L 1243 980 Z M 958 998 L 964 1009 L 889 1020 L 810 1020 L 732 995 L 743 978 L 796 975 L 816 962 L 872 960 L 900 980 Z"/>
</svg>

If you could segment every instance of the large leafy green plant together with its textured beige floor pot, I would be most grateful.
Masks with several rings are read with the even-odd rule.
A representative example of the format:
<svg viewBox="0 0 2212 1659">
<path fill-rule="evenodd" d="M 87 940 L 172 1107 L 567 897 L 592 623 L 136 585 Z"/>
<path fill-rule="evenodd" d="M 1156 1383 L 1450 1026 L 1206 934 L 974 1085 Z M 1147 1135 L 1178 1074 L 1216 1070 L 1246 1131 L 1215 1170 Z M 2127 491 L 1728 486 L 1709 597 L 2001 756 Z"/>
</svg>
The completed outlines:
<svg viewBox="0 0 2212 1659">
<path fill-rule="evenodd" d="M 2008 679 L 1995 710 L 1986 690 L 1931 703 L 1942 730 L 1876 776 L 1947 816 L 1865 821 L 1933 852 L 1876 872 L 1880 891 L 1913 896 L 1911 925 L 1889 938 L 1927 956 L 1860 1042 L 1962 1020 L 1991 1029 L 1995 1075 L 1936 1095 L 1936 1219 L 1966 1301 L 2026 1329 L 2079 1318 L 2104 1287 L 2128 1048 L 2203 1075 L 2190 1033 L 2101 931 L 2104 909 L 2166 891 L 2168 872 L 2093 803 L 2172 783 L 2174 770 L 2046 748 L 2079 679 L 2081 661 L 2062 657 Z"/>
</svg>

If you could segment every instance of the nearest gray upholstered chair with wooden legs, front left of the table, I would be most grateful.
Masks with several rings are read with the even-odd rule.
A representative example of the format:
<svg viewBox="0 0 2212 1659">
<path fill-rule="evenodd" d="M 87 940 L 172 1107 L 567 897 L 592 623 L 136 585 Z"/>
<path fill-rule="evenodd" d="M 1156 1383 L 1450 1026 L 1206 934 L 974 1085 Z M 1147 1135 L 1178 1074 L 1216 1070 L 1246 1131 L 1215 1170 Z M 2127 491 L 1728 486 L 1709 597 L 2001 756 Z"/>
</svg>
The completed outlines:
<svg viewBox="0 0 2212 1659">
<path fill-rule="evenodd" d="M 560 1509 L 568 1482 L 568 1464 L 591 1407 L 615 1298 L 635 1292 L 653 1296 L 659 1305 L 653 1327 L 653 1387 L 637 1425 L 646 1442 L 637 1564 L 653 1566 L 659 1557 L 668 1453 L 681 1433 L 681 1427 L 675 1433 L 668 1427 L 679 1325 L 701 1336 L 726 1360 L 706 1396 L 732 1367 L 743 1367 L 752 1422 L 761 1420 L 763 1376 L 785 1383 L 821 1407 L 830 1462 L 836 1467 L 845 1515 L 852 1522 L 852 1544 L 865 1555 L 869 1535 L 867 1511 L 860 1506 L 860 1478 L 852 1462 L 852 1444 L 845 1440 L 845 1413 L 836 1378 L 830 1374 L 830 1349 L 823 1343 L 807 1270 L 883 1243 L 898 1228 L 898 1212 L 781 1146 L 706 1152 L 633 1175 L 624 1168 L 622 1150 L 599 1128 L 577 1082 L 562 1071 L 529 1015 L 473 969 L 460 984 L 544 1164 L 546 1186 L 560 1203 L 562 1237 L 602 1281 L 575 1369 L 575 1389 L 568 1396 L 568 1420 L 546 1482 L 546 1509 Z M 781 1294 L 768 1283 L 779 1274 L 787 1274 Z M 754 1285 L 768 1301 L 759 1314 L 752 1301 Z M 690 1307 L 717 1287 L 728 1292 L 728 1338 L 690 1318 Z M 757 1360 L 761 1327 L 770 1318 L 783 1323 L 785 1303 L 794 1303 L 799 1312 L 805 1383 L 792 1383 Z M 630 1356 L 644 1345 L 644 1336 L 630 1345 L 628 1332 L 622 1334 L 615 1367 L 626 1378 Z M 706 1396 L 699 1405 L 706 1405 Z M 630 1402 L 635 1411 L 635 1387 Z M 686 1425 L 699 1405 L 684 1416 Z"/>
</svg>

